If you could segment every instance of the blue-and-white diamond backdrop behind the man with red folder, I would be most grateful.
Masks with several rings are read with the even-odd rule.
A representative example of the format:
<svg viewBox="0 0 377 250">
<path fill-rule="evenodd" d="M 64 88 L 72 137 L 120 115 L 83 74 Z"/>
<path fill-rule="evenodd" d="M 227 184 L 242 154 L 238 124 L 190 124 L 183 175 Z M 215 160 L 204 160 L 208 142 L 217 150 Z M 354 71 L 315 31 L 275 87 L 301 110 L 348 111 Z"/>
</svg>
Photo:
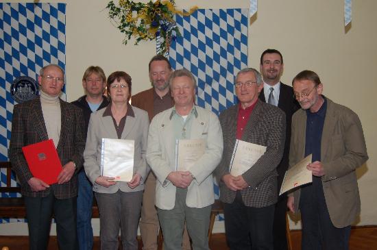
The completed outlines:
<svg viewBox="0 0 377 250">
<path fill-rule="evenodd" d="M 58 64 L 65 68 L 65 3 L 0 3 L 0 161 L 8 161 L 13 106 L 17 93 L 38 94 L 33 84 L 14 87 L 17 79 L 36 81 L 40 68 Z M 38 88 L 38 86 L 36 87 Z M 35 93 L 33 93 L 35 92 Z M 19 96 L 20 97 L 20 96 Z M 65 99 L 63 93 L 62 99 Z M 17 101 L 16 101 L 17 100 Z M 0 173 L 5 186 L 6 172 Z M 17 186 L 12 174 L 12 186 Z M 1 197 L 20 194 L 0 193 Z M 0 223 L 17 221 L 0 218 Z"/>
</svg>

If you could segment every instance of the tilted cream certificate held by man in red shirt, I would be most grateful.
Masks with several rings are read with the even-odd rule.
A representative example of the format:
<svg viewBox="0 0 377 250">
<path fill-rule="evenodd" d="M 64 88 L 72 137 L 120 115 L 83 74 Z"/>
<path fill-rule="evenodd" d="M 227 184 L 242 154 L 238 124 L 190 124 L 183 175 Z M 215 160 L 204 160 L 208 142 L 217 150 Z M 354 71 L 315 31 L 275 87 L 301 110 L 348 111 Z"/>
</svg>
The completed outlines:
<svg viewBox="0 0 377 250">
<path fill-rule="evenodd" d="M 232 159 L 230 160 L 230 174 L 239 176 L 248 171 L 265 153 L 267 147 L 254 143 L 236 140 Z"/>
</svg>

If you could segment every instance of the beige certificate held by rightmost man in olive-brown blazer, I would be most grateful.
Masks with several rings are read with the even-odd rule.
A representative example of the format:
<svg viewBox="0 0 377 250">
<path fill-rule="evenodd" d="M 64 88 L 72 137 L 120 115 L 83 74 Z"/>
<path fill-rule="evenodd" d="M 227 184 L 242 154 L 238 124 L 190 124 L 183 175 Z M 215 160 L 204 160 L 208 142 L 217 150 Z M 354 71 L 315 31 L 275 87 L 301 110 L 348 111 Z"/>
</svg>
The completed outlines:
<svg viewBox="0 0 377 250">
<path fill-rule="evenodd" d="M 312 171 L 306 168 L 311 162 L 312 155 L 310 154 L 285 172 L 279 195 L 282 195 L 284 192 L 296 188 L 297 186 L 313 182 Z"/>
</svg>

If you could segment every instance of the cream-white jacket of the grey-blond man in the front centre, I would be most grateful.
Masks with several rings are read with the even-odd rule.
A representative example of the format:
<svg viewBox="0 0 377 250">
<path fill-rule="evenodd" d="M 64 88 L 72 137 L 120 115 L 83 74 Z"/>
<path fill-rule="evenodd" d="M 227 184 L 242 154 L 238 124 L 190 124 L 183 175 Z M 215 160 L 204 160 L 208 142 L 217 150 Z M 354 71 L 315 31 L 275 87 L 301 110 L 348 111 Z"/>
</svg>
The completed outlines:
<svg viewBox="0 0 377 250">
<path fill-rule="evenodd" d="M 190 168 L 194 177 L 187 190 L 186 205 L 190 208 L 204 208 L 215 201 L 212 171 L 219 164 L 223 151 L 223 137 L 219 118 L 209 110 L 195 106 L 197 117 L 193 116 L 191 139 L 206 140 L 206 151 Z M 156 206 L 171 210 L 175 203 L 175 186 L 167 176 L 175 171 L 175 141 L 171 112 L 173 108 L 154 116 L 149 127 L 147 162 L 154 171 Z"/>
</svg>

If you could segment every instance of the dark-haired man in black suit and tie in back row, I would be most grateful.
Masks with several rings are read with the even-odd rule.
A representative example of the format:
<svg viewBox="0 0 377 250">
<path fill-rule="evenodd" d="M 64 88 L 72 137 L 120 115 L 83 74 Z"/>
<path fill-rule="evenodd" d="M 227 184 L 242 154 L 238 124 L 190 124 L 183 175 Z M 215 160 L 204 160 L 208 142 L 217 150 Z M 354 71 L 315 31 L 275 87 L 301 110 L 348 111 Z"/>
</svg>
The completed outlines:
<svg viewBox="0 0 377 250">
<path fill-rule="evenodd" d="M 283 58 L 280 51 L 276 49 L 266 49 L 260 55 L 260 73 L 263 76 L 264 86 L 260 91 L 259 99 L 275 105 L 285 113 L 286 135 L 284 153 L 278 171 L 278 192 L 282 186 L 285 171 L 288 169 L 289 144 L 291 140 L 291 121 L 293 113 L 300 108 L 293 97 L 291 86 L 280 82 L 280 77 L 284 69 Z M 284 193 L 278 198 L 273 218 L 273 249 L 287 250 L 287 222 L 285 214 L 287 212 L 287 194 Z"/>
</svg>

